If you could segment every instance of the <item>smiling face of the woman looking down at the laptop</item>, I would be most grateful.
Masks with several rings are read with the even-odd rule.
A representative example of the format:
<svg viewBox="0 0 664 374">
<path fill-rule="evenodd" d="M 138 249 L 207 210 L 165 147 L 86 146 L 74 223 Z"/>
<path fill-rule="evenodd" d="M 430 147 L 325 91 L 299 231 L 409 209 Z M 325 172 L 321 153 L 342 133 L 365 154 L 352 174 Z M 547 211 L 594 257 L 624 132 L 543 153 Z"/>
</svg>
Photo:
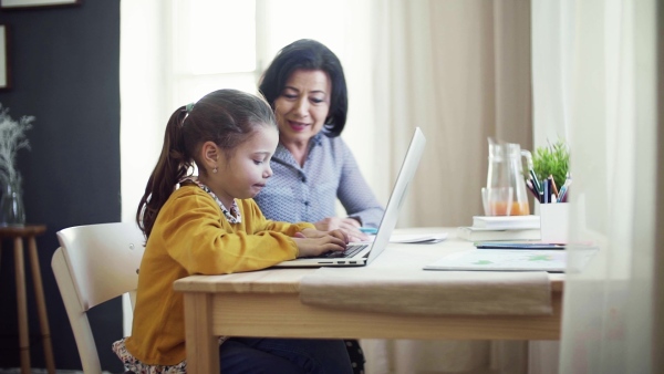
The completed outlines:
<svg viewBox="0 0 664 374">
<path fill-rule="evenodd" d="M 274 101 L 280 141 L 308 144 L 323 128 L 331 95 L 332 83 L 325 72 L 295 70 Z"/>
</svg>

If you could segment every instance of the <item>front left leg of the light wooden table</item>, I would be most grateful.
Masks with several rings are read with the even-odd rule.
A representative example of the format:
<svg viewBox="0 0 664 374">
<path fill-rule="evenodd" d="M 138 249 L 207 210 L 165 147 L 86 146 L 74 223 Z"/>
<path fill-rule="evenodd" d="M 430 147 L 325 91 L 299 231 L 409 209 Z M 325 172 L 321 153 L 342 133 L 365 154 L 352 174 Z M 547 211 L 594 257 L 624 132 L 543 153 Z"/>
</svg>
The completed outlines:
<svg viewBox="0 0 664 374">
<path fill-rule="evenodd" d="M 187 373 L 219 373 L 219 339 L 212 334 L 212 298 L 185 293 Z"/>
</svg>

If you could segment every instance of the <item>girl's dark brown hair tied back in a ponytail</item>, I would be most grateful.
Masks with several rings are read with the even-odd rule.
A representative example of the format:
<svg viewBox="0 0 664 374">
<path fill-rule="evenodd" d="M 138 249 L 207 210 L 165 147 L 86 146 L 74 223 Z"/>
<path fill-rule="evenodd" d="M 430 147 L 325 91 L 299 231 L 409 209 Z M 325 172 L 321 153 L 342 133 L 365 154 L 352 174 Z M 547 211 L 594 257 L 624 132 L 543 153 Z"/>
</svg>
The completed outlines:
<svg viewBox="0 0 664 374">
<path fill-rule="evenodd" d="M 237 90 L 215 91 L 177 108 L 166 125 L 162 154 L 136 211 L 145 237 L 149 238 L 159 210 L 194 163 L 199 174 L 206 173 L 199 159 L 205 142 L 215 142 L 230 157 L 259 126 L 277 126 L 272 110 L 262 97 Z"/>
</svg>

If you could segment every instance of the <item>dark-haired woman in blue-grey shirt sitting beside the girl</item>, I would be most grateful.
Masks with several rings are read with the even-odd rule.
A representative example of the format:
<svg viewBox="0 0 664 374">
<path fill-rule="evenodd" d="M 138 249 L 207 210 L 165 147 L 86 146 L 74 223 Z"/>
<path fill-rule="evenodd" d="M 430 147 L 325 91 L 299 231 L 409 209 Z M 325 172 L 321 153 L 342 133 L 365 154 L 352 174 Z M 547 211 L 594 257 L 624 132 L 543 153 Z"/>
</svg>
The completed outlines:
<svg viewBox="0 0 664 374">
<path fill-rule="evenodd" d="M 324 231 L 341 229 L 355 241 L 367 239 L 360 227 L 377 228 L 383 207 L 339 136 L 349 101 L 336 55 L 314 40 L 298 40 L 277 54 L 259 90 L 279 125 L 279 145 L 271 160 L 274 174 L 255 197 L 264 216 L 314 222 Z M 336 215 L 338 199 L 344 217 Z M 355 373 L 363 373 L 357 342 L 346 341 L 346 345 Z"/>
</svg>

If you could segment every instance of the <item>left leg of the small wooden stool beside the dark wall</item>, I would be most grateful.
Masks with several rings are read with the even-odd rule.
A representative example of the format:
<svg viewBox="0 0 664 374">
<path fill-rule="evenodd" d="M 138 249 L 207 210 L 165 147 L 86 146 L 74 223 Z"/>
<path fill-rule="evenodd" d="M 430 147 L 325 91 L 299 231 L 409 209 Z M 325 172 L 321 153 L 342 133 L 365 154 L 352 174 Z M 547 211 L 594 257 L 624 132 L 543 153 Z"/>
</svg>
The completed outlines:
<svg viewBox="0 0 664 374">
<path fill-rule="evenodd" d="M 17 272 L 17 307 L 19 313 L 21 373 L 30 374 L 30 339 L 28 333 L 28 300 L 25 298 L 25 268 L 23 261 L 22 238 L 14 238 L 14 268 Z"/>
</svg>

